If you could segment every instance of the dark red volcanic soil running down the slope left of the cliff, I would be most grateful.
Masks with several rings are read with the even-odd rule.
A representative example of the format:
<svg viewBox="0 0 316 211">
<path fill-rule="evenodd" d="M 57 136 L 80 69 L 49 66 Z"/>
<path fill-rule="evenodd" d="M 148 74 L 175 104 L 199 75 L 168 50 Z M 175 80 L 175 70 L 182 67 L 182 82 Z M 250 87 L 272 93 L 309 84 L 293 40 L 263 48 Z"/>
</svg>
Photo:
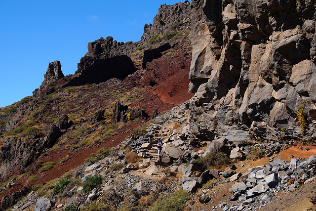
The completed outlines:
<svg viewBox="0 0 316 211">
<path fill-rule="evenodd" d="M 167 111 L 174 106 L 181 104 L 189 100 L 193 94 L 188 93 L 189 87 L 189 69 L 191 63 L 191 47 L 184 48 L 177 44 L 172 49 L 172 54 L 163 55 L 161 58 L 154 60 L 147 64 L 146 70 L 139 69 L 134 74 L 127 77 L 118 86 L 123 86 L 127 89 L 138 86 L 139 88 L 146 89 L 143 92 L 144 100 L 134 102 L 131 107 L 139 107 L 146 111 L 147 114 L 152 115 L 155 108 L 158 108 L 158 113 Z M 166 53 L 166 52 L 165 52 Z M 107 84 L 108 85 L 108 84 Z M 113 85 L 113 84 L 112 84 Z M 90 91 L 94 91 L 93 88 Z M 92 111 L 97 111 L 100 107 L 104 106 L 101 103 L 101 99 L 98 99 L 100 104 L 90 108 Z M 51 102 L 53 104 L 54 102 Z M 74 104 L 74 103 L 73 103 Z M 82 107 L 87 107 L 88 103 L 82 103 Z M 59 109 L 50 110 L 46 112 L 54 112 L 58 115 L 61 113 L 67 113 L 68 111 L 61 112 Z M 54 178 L 63 175 L 66 171 L 79 167 L 84 163 L 84 159 L 88 158 L 91 153 L 96 152 L 97 149 L 103 147 L 117 146 L 122 140 L 130 134 L 134 128 L 137 128 L 144 123 L 138 121 L 136 123 L 127 125 L 118 129 L 116 134 L 108 139 L 106 142 L 92 148 L 81 148 L 78 152 L 73 152 L 70 159 L 63 164 L 59 164 L 58 161 L 65 158 L 68 150 L 54 150 L 48 151 L 47 156 L 40 158 L 39 160 L 45 162 L 55 162 L 53 169 L 48 171 L 37 173 L 38 179 L 30 184 L 25 185 L 26 177 L 18 180 L 15 184 L 6 190 L 5 195 L 12 194 L 13 192 L 22 190 L 25 186 L 32 187 L 36 184 L 46 183 Z M 28 169 L 39 169 L 38 162 L 34 162 Z M 4 195 L 2 195 L 3 197 Z"/>
</svg>

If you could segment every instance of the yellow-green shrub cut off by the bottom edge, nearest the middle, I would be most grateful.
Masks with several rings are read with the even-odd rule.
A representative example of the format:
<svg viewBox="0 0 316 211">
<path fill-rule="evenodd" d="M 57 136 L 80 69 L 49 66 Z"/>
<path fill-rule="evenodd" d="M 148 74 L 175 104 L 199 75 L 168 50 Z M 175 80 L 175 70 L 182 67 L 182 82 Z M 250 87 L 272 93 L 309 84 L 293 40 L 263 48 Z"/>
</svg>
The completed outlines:
<svg viewBox="0 0 316 211">
<path fill-rule="evenodd" d="M 173 194 L 162 194 L 150 211 L 182 211 L 184 201 L 190 198 L 185 190 L 178 190 Z"/>
</svg>

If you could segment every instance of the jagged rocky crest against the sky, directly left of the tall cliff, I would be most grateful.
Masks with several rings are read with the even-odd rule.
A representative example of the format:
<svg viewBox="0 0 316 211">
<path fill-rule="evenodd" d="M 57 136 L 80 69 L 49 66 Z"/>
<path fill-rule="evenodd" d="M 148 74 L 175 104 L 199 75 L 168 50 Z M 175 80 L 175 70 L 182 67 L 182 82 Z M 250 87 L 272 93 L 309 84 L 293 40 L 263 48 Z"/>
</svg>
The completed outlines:
<svg viewBox="0 0 316 211">
<path fill-rule="evenodd" d="M 158 14 L 154 17 L 153 24 L 145 24 L 141 42 L 149 42 L 155 35 L 166 32 L 167 29 L 177 22 L 187 22 L 191 18 L 190 2 L 178 2 L 173 5 L 161 4 Z"/>
</svg>

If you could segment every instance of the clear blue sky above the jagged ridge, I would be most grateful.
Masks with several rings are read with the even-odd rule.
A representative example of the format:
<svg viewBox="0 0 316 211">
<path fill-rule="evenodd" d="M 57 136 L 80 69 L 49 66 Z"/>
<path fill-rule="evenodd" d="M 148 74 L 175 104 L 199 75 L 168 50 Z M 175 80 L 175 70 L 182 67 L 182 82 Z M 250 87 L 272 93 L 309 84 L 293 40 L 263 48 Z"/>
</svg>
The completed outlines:
<svg viewBox="0 0 316 211">
<path fill-rule="evenodd" d="M 137 42 L 160 4 L 184 0 L 0 0 L 0 107 L 40 87 L 49 62 L 74 74 L 88 42 Z"/>
</svg>

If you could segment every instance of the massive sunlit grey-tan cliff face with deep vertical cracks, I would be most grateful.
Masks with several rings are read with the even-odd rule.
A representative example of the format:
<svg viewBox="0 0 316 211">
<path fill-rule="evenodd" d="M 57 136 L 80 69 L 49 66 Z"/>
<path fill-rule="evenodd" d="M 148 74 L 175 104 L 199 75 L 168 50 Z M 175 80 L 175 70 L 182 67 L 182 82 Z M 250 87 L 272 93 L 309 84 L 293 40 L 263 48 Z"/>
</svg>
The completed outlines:
<svg viewBox="0 0 316 211">
<path fill-rule="evenodd" d="M 192 0 L 195 104 L 228 121 L 291 125 L 316 103 L 315 8 L 309 1 Z M 304 5 L 304 6 L 303 6 Z"/>
</svg>

